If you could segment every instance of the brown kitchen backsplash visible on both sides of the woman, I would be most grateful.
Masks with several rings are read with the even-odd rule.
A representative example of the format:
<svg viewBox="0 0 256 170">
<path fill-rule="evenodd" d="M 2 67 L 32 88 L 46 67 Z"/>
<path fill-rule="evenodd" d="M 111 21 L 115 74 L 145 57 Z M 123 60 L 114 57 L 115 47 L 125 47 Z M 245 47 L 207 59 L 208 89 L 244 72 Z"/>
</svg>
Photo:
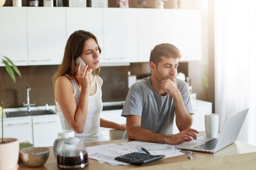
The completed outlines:
<svg viewBox="0 0 256 170">
<path fill-rule="evenodd" d="M 27 102 L 26 87 L 31 87 L 29 92 L 30 103 L 36 101 L 37 106 L 45 104 L 54 105 L 54 92 L 52 76 L 57 66 L 18 66 L 21 78 L 16 76 L 16 83 L 0 67 L 0 73 L 6 94 L 5 108 L 22 107 Z M 103 79 L 103 102 L 125 100 L 128 93 L 128 66 L 101 67 Z M 3 100 L 0 90 L 0 101 Z"/>
</svg>

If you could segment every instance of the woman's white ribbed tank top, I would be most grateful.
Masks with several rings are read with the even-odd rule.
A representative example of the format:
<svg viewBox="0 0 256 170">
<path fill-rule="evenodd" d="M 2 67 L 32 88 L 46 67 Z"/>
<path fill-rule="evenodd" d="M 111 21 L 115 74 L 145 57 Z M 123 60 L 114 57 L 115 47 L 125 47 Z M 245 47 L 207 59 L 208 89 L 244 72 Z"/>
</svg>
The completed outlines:
<svg viewBox="0 0 256 170">
<path fill-rule="evenodd" d="M 70 75 L 65 75 L 67 77 L 70 77 Z M 96 93 L 92 96 L 89 96 L 88 101 L 88 112 L 87 112 L 87 118 L 84 126 L 83 133 L 76 133 L 75 137 L 79 137 L 83 142 L 94 142 L 94 141 L 103 141 L 103 136 L 101 135 L 100 131 L 100 114 L 103 108 L 102 105 L 102 91 L 101 91 L 101 85 L 99 84 L 99 80 L 97 79 L 97 76 L 94 76 L 96 80 Z M 74 86 L 74 98 L 76 101 L 76 106 L 79 104 L 79 97 L 81 90 L 76 83 L 75 79 L 71 79 L 71 82 Z M 56 101 L 55 101 L 56 102 Z M 64 117 L 61 107 L 56 102 L 56 108 L 58 110 L 58 113 L 60 115 L 61 120 L 61 127 L 63 130 L 73 130 L 70 124 L 67 122 L 67 119 Z"/>
</svg>

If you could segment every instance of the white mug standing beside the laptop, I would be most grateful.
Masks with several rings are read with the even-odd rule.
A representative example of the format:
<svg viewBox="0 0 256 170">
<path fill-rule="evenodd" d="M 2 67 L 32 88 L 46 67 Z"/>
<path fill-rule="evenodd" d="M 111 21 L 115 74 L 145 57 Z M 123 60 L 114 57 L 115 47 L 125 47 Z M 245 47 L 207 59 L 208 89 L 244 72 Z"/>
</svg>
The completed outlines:
<svg viewBox="0 0 256 170">
<path fill-rule="evenodd" d="M 217 113 L 204 115 L 204 126 L 207 137 L 217 137 L 219 129 L 219 115 Z"/>
</svg>

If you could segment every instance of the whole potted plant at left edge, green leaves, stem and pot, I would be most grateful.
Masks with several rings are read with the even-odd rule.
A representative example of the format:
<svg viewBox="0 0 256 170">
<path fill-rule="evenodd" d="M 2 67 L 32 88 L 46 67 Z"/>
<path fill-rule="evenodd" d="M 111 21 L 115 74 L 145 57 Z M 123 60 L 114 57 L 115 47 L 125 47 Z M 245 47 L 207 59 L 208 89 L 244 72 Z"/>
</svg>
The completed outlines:
<svg viewBox="0 0 256 170">
<path fill-rule="evenodd" d="M 13 64 L 13 62 L 5 56 L 1 56 L 1 62 L 5 65 L 7 73 L 10 75 L 13 82 L 16 82 L 14 75 L 15 71 L 20 77 L 20 71 Z M 0 74 L 0 86 L 2 87 L 3 92 L 3 101 L 1 101 L 2 106 L 2 137 L 0 138 L 0 170 L 10 170 L 16 168 L 18 165 L 18 156 L 19 156 L 19 143 L 18 139 L 15 138 L 4 138 L 4 129 L 3 129 L 3 115 L 4 115 L 4 104 L 5 104 L 5 93 L 4 86 Z"/>
</svg>

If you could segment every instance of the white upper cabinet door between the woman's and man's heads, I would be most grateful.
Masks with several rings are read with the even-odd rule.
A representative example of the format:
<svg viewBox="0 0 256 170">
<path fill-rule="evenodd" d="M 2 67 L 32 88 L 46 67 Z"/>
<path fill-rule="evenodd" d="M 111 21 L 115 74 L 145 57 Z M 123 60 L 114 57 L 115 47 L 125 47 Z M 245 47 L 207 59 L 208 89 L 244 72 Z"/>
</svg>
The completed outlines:
<svg viewBox="0 0 256 170">
<path fill-rule="evenodd" d="M 103 9 L 104 62 L 138 61 L 137 9 Z"/>
</svg>

